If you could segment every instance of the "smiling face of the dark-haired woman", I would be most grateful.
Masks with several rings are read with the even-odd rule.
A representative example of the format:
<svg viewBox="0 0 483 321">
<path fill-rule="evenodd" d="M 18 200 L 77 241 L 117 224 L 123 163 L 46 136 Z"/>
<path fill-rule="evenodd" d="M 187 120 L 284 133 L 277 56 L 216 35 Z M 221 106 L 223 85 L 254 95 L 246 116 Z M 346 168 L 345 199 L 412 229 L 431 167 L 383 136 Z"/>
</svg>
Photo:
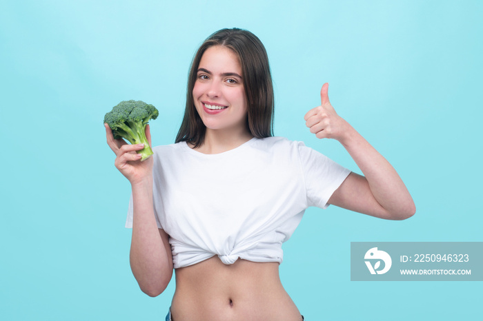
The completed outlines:
<svg viewBox="0 0 483 321">
<path fill-rule="evenodd" d="M 207 130 L 248 131 L 242 77 L 242 66 L 232 50 L 215 45 L 201 56 L 193 100 Z"/>
</svg>

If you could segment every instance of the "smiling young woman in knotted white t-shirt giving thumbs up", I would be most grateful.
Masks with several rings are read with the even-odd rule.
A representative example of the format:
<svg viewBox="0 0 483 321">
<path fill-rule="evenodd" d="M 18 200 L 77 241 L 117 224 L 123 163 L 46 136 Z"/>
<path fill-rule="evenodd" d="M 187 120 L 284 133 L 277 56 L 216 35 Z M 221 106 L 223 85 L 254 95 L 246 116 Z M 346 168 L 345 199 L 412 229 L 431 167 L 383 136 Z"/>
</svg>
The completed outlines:
<svg viewBox="0 0 483 321">
<path fill-rule="evenodd" d="M 415 213 L 395 169 L 337 115 L 322 86 L 305 115 L 364 173 L 272 136 L 273 87 L 264 45 L 239 29 L 215 32 L 190 69 L 176 143 L 140 162 L 142 145 L 114 140 L 115 165 L 132 186 L 126 225 L 141 290 L 158 296 L 176 277 L 166 320 L 303 320 L 282 287 L 282 242 L 307 207 L 336 205 L 389 220 Z M 146 135 L 150 141 L 149 128 Z"/>
</svg>

